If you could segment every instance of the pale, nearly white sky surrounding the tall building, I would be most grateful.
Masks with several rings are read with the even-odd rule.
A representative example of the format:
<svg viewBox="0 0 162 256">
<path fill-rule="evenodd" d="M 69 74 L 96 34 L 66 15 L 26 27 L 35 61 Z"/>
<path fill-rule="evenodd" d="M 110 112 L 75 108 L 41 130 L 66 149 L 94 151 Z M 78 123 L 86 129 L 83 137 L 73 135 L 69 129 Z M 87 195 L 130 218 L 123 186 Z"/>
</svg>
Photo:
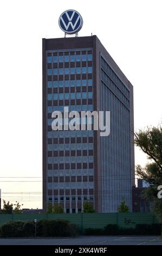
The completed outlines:
<svg viewBox="0 0 162 256">
<path fill-rule="evenodd" d="M 157 125 L 161 113 L 162 15 L 160 0 L 8 0 L 0 4 L 0 176 L 42 176 L 42 38 L 62 38 L 60 14 L 83 17 L 79 36 L 98 36 L 134 86 L 134 128 Z M 135 149 L 135 164 L 146 157 Z M 37 180 L 0 178 L 2 193 L 41 192 Z M 41 194 L 2 198 L 41 208 Z M 27 198 L 25 198 L 27 197 Z M 37 197 L 37 198 L 36 198 Z"/>
</svg>

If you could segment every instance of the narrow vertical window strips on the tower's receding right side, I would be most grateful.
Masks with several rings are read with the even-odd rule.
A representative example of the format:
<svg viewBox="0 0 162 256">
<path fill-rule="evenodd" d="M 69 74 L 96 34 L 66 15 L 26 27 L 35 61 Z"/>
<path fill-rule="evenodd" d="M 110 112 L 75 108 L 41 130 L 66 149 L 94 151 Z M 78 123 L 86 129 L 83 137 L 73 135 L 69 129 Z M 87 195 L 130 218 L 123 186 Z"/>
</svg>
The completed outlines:
<svg viewBox="0 0 162 256">
<path fill-rule="evenodd" d="M 100 138 L 102 212 L 115 212 L 122 198 L 132 201 L 129 90 L 102 57 L 101 74 L 101 111 L 111 110 L 111 134 Z"/>
</svg>

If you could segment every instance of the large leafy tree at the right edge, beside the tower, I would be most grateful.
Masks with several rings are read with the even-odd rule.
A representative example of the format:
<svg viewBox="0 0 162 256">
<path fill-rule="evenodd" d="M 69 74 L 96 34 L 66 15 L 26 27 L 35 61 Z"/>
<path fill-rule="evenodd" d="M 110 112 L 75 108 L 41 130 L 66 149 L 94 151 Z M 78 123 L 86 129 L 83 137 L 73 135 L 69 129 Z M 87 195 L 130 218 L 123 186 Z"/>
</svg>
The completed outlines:
<svg viewBox="0 0 162 256">
<path fill-rule="evenodd" d="M 134 133 L 134 143 L 146 155 L 149 162 L 144 168 L 136 167 L 136 174 L 150 183 L 144 196 L 152 202 L 153 213 L 162 220 L 162 199 L 157 197 L 158 186 L 162 185 L 162 127 L 147 127 Z"/>
</svg>

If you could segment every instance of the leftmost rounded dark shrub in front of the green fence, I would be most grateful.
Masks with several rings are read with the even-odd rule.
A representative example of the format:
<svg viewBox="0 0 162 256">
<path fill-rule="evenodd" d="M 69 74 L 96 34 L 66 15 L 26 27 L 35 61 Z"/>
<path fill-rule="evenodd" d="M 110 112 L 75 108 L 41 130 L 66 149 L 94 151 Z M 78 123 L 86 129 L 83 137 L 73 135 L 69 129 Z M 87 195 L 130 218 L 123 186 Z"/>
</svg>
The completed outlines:
<svg viewBox="0 0 162 256">
<path fill-rule="evenodd" d="M 2 225 L 2 236 L 18 237 L 23 235 L 23 221 L 9 221 Z"/>
</svg>

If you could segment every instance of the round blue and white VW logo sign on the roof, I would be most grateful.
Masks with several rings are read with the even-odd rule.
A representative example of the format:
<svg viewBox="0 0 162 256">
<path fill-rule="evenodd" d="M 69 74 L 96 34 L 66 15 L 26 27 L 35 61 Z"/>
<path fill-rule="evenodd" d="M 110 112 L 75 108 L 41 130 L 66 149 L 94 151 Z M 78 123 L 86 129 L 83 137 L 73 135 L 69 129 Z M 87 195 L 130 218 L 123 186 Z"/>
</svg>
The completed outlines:
<svg viewBox="0 0 162 256">
<path fill-rule="evenodd" d="M 82 25 L 82 16 L 75 10 L 64 11 L 59 18 L 59 26 L 67 34 L 79 32 Z"/>
</svg>

